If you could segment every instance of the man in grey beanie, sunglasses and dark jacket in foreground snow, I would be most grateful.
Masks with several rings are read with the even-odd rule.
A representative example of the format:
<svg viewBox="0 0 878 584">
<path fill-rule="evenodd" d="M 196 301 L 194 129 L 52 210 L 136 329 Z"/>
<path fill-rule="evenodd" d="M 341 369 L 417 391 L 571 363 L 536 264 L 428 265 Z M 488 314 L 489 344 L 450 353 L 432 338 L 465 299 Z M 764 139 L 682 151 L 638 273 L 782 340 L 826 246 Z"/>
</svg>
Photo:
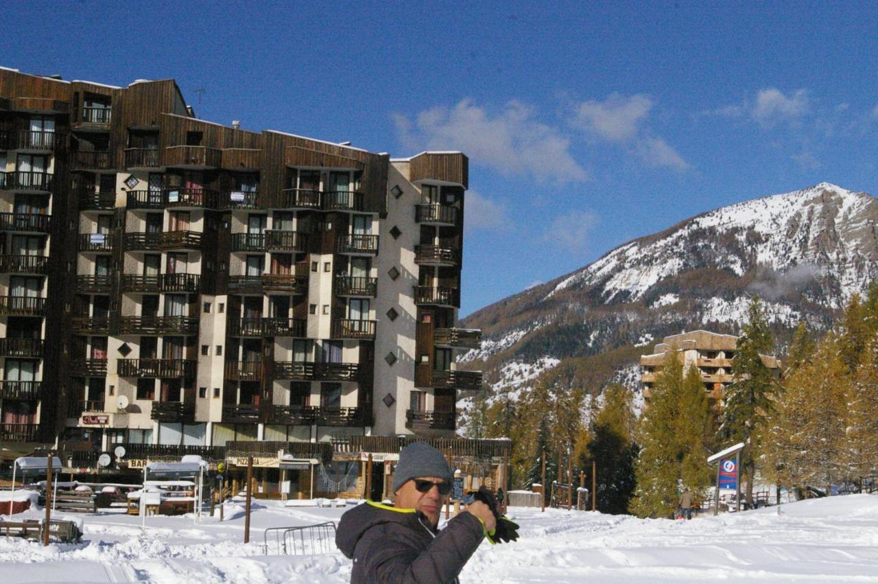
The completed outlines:
<svg viewBox="0 0 878 584">
<path fill-rule="evenodd" d="M 428 443 L 399 452 L 394 505 L 367 501 L 342 516 L 335 544 L 354 560 L 351 582 L 453 582 L 496 518 L 473 501 L 437 531 L 453 474 Z"/>
</svg>

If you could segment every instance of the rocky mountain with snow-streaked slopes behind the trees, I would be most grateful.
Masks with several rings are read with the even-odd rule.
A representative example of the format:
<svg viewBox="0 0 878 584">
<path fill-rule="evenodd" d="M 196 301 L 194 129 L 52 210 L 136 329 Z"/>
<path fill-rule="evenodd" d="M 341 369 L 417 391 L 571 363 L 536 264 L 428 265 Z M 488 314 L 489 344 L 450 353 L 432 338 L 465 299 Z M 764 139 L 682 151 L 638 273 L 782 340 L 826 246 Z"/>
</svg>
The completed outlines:
<svg viewBox="0 0 878 584">
<path fill-rule="evenodd" d="M 702 213 L 471 314 L 463 326 L 485 341 L 462 366 L 500 389 L 509 364 L 615 350 L 636 384 L 622 371 L 639 353 L 682 330 L 737 333 L 754 294 L 783 343 L 799 321 L 827 327 L 878 277 L 876 235 L 878 199 L 828 183 Z"/>
</svg>

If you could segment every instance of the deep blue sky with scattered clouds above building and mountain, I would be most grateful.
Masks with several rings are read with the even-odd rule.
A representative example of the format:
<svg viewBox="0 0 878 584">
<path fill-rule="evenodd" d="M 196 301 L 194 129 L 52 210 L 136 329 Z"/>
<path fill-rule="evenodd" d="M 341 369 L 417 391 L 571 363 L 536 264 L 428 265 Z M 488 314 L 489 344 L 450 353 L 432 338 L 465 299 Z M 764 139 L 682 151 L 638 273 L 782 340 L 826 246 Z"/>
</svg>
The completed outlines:
<svg viewBox="0 0 878 584">
<path fill-rule="evenodd" d="M 499 6 L 13 0 L 0 65 L 174 77 L 205 119 L 464 150 L 462 315 L 718 206 L 878 193 L 874 5 Z"/>
</svg>

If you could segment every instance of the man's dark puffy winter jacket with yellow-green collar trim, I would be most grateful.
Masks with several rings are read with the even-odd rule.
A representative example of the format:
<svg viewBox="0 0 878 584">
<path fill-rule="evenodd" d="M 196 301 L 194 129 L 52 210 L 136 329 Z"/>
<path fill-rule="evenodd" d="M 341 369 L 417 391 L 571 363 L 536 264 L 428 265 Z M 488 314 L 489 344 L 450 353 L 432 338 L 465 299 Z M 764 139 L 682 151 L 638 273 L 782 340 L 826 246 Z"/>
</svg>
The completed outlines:
<svg viewBox="0 0 878 584">
<path fill-rule="evenodd" d="M 371 501 L 342 516 L 335 544 L 354 560 L 350 581 L 453 582 L 485 537 L 471 513 L 435 532 L 426 516 Z"/>
</svg>

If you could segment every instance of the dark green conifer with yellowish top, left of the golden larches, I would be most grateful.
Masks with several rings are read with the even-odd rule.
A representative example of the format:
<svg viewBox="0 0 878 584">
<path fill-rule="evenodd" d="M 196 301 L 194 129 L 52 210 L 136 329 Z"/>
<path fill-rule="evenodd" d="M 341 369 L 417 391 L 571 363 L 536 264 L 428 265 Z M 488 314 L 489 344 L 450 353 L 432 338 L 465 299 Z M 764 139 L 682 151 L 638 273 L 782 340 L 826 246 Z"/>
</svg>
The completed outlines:
<svg viewBox="0 0 878 584">
<path fill-rule="evenodd" d="M 633 396 L 627 387 L 607 386 L 603 398 L 603 407 L 594 417 L 587 453 L 583 455 L 586 459 L 580 466 L 591 474 L 587 458 L 594 458 L 597 508 L 601 513 L 621 514 L 628 511 L 637 486 L 634 476 L 637 445 L 632 438 L 637 418 L 631 410 Z"/>
</svg>

